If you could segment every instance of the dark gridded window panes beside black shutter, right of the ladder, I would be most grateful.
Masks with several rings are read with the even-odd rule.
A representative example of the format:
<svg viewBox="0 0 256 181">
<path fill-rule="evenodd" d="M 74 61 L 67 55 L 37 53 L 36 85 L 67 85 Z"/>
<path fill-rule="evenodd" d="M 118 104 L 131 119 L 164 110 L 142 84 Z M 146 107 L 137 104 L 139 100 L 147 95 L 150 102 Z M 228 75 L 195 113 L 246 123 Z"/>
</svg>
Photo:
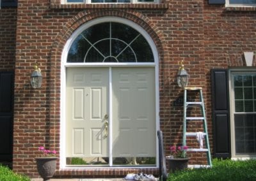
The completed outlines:
<svg viewBox="0 0 256 181">
<path fill-rule="evenodd" d="M 232 74 L 235 156 L 256 153 L 256 73 Z"/>
</svg>

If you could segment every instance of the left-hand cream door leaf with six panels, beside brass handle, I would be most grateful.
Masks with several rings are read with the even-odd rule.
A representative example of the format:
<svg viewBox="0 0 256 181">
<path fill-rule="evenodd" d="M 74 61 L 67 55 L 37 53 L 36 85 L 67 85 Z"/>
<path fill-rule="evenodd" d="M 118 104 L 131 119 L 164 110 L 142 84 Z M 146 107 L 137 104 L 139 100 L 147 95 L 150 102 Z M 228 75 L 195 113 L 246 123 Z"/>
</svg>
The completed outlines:
<svg viewBox="0 0 256 181">
<path fill-rule="evenodd" d="M 108 157 L 108 85 L 108 68 L 67 68 L 67 157 Z"/>
</svg>

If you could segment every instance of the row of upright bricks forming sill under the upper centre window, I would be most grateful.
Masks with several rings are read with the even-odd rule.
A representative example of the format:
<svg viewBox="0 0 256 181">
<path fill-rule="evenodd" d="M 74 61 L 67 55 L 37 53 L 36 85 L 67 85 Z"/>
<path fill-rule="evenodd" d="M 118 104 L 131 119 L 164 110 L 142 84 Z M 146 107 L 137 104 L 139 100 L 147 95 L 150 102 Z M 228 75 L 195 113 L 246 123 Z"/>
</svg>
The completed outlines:
<svg viewBox="0 0 256 181">
<path fill-rule="evenodd" d="M 167 10 L 168 4 L 141 3 L 141 4 L 56 4 L 51 3 L 52 9 L 154 9 Z"/>
</svg>

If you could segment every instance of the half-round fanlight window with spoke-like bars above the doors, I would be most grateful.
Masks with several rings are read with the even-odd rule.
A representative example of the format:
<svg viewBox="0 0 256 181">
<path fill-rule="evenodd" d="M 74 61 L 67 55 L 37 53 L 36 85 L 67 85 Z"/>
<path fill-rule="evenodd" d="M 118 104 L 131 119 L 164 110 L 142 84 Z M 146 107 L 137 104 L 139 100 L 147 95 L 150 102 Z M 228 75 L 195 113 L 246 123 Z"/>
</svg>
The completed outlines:
<svg viewBox="0 0 256 181">
<path fill-rule="evenodd" d="M 104 22 L 73 41 L 67 62 L 154 62 L 147 40 L 129 25 Z"/>
</svg>

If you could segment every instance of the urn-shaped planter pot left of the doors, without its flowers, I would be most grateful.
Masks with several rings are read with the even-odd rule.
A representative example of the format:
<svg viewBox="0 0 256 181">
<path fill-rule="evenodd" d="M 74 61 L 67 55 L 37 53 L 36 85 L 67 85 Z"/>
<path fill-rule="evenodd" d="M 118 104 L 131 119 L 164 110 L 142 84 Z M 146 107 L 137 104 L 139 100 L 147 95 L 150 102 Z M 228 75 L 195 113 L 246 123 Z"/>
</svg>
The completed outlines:
<svg viewBox="0 0 256 181">
<path fill-rule="evenodd" d="M 39 175 L 44 180 L 49 180 L 55 173 L 57 157 L 38 157 L 36 158 L 36 166 Z"/>
</svg>

